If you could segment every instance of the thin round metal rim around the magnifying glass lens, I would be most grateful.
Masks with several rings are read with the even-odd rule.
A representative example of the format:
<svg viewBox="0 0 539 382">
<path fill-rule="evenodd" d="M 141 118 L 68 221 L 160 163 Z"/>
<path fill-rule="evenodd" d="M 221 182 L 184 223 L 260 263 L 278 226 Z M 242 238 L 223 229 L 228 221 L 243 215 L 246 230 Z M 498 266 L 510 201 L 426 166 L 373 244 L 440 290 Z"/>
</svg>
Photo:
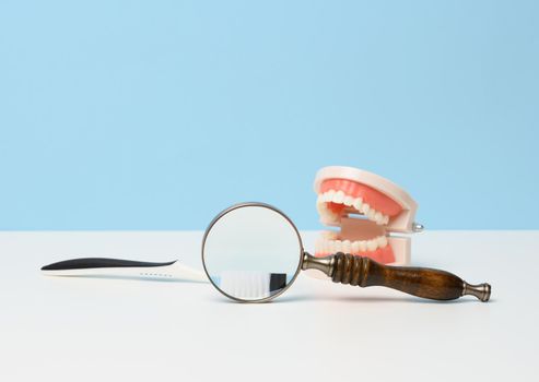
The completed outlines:
<svg viewBox="0 0 539 382">
<path fill-rule="evenodd" d="M 278 293 L 276 293 L 276 294 L 273 294 L 271 296 L 268 296 L 268 297 L 265 297 L 265 298 L 260 298 L 260 299 L 255 299 L 255 300 L 242 299 L 242 298 L 237 298 L 235 296 L 231 296 L 231 295 L 226 294 L 218 285 L 215 285 L 215 283 L 213 283 L 213 279 L 210 277 L 210 273 L 208 272 L 208 268 L 206 267 L 204 247 L 206 247 L 206 239 L 208 238 L 208 235 L 210 234 L 211 229 L 213 228 L 213 226 L 215 225 L 215 223 L 218 223 L 218 220 L 221 219 L 224 215 L 226 215 L 226 214 L 229 214 L 229 213 L 231 213 L 231 212 L 233 212 L 235 210 L 244 208 L 244 207 L 263 207 L 263 208 L 268 208 L 268 210 L 271 210 L 273 212 L 277 212 L 279 215 L 281 215 L 282 217 L 284 217 L 289 222 L 290 226 L 294 229 L 295 235 L 297 236 L 297 241 L 300 243 L 300 253 L 298 253 L 300 259 L 297 261 L 297 268 L 295 270 L 294 276 L 291 278 L 290 283 L 288 283 L 286 286 L 284 288 L 282 288 L 281 290 L 279 290 Z M 202 266 L 204 268 L 206 275 L 208 276 L 208 279 L 215 287 L 215 289 L 218 289 L 222 295 L 224 295 L 225 297 L 227 297 L 230 299 L 233 299 L 234 301 L 237 301 L 237 302 L 248 302 L 248 303 L 250 303 L 250 302 L 267 302 L 267 301 L 272 300 L 276 297 L 282 295 L 288 288 L 290 288 L 290 286 L 292 284 L 294 284 L 297 275 L 302 271 L 302 264 L 303 264 L 304 253 L 305 252 L 304 252 L 304 249 L 303 249 L 302 237 L 300 236 L 300 231 L 297 230 L 297 228 L 294 225 L 294 223 L 290 219 L 290 217 L 288 217 L 286 214 L 284 214 L 279 208 L 276 208 L 274 206 L 272 206 L 270 204 L 260 203 L 260 202 L 238 203 L 238 204 L 234 204 L 234 205 L 227 207 L 226 210 L 223 210 L 222 212 L 220 212 L 210 222 L 210 224 L 208 225 L 208 228 L 206 228 L 206 232 L 204 232 L 204 236 L 202 238 Z"/>
</svg>

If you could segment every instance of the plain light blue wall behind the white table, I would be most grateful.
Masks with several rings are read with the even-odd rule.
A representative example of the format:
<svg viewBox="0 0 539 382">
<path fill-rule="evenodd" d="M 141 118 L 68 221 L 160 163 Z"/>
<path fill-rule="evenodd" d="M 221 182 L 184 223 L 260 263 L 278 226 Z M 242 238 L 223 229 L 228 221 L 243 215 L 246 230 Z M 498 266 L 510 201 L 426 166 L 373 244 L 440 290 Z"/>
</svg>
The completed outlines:
<svg viewBox="0 0 539 382">
<path fill-rule="evenodd" d="M 427 228 L 539 228 L 537 1 L 0 3 L 0 229 L 202 229 L 312 182 Z"/>
</svg>

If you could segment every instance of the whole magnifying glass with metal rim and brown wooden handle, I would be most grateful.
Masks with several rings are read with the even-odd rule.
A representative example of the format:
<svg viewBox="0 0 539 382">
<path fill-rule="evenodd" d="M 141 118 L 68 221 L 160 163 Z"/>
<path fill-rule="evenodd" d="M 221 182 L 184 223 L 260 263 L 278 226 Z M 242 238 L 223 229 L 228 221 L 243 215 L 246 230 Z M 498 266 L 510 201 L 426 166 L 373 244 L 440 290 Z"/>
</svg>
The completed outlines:
<svg viewBox="0 0 539 382">
<path fill-rule="evenodd" d="M 280 296 L 305 270 L 318 270 L 335 283 L 385 286 L 434 300 L 471 295 L 488 301 L 491 294 L 489 284 L 470 285 L 445 271 L 383 265 L 341 252 L 315 258 L 303 249 L 292 220 L 263 203 L 242 203 L 221 212 L 203 236 L 202 264 L 211 284 L 241 302 Z"/>
</svg>

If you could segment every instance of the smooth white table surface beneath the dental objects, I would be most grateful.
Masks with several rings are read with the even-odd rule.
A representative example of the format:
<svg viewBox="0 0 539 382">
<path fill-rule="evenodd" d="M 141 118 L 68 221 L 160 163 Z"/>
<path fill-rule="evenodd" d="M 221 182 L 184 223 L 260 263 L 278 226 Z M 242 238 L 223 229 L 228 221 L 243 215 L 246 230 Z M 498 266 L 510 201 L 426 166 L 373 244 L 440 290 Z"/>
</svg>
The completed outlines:
<svg viewBox="0 0 539 382">
<path fill-rule="evenodd" d="M 0 381 L 539 380 L 539 231 L 413 237 L 415 265 L 491 283 L 488 303 L 300 275 L 274 302 L 241 305 L 209 284 L 38 271 L 75 256 L 200 267 L 201 235 L 0 232 Z"/>
</svg>

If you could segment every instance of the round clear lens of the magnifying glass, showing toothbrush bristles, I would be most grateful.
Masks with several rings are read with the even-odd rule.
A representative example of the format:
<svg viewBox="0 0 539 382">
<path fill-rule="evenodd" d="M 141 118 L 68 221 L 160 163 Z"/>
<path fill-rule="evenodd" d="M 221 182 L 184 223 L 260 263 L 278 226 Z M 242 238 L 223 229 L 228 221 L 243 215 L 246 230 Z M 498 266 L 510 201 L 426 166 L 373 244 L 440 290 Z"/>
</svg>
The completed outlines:
<svg viewBox="0 0 539 382">
<path fill-rule="evenodd" d="M 266 204 L 242 204 L 222 212 L 202 243 L 211 283 L 239 301 L 263 301 L 284 291 L 300 271 L 302 253 L 292 222 Z"/>
</svg>

